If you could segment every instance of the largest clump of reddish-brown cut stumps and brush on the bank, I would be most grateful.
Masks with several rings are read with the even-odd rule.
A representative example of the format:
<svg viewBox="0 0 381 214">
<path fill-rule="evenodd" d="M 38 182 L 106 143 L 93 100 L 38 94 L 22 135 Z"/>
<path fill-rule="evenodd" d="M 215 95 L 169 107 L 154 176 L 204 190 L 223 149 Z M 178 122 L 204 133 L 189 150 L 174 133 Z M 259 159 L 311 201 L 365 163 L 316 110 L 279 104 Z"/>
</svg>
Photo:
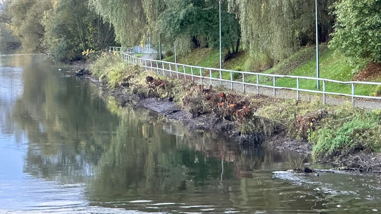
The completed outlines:
<svg viewBox="0 0 381 214">
<path fill-rule="evenodd" d="M 192 86 L 182 99 L 183 108 L 188 109 L 193 117 L 213 113 L 216 117 L 234 122 L 240 131 L 242 144 L 256 145 L 279 130 L 273 120 L 256 116 L 256 108 L 249 97 L 235 91 L 216 91 L 211 86 Z"/>
</svg>

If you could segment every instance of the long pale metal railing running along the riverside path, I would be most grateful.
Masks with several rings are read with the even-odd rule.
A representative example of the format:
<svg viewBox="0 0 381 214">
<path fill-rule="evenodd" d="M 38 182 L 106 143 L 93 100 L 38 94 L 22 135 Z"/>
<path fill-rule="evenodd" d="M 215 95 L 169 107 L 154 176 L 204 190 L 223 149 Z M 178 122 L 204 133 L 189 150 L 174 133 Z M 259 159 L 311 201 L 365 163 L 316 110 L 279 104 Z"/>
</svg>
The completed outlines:
<svg viewBox="0 0 381 214">
<path fill-rule="evenodd" d="M 175 73 L 177 78 L 179 78 L 179 75 L 184 75 L 184 78 L 186 76 L 191 76 L 192 80 L 194 78 L 199 78 L 200 83 L 203 84 L 203 81 L 205 79 L 210 80 L 210 84 L 212 84 L 212 81 L 219 81 L 221 84 L 222 82 L 230 82 L 231 89 L 234 89 L 234 84 L 240 84 L 242 85 L 243 92 L 246 91 L 246 86 L 255 86 L 257 89 L 257 93 L 259 94 L 259 87 L 266 87 L 273 89 L 274 97 L 276 95 L 276 89 L 285 89 L 285 90 L 294 90 L 296 91 L 296 100 L 299 100 L 300 92 L 309 92 L 309 93 L 315 93 L 315 94 L 322 94 L 323 95 L 323 103 L 326 102 L 326 95 L 337 95 L 337 96 L 345 96 L 345 97 L 352 97 L 352 104 L 354 105 L 355 98 L 368 98 L 368 99 L 378 99 L 381 100 L 381 97 L 373 97 L 373 96 L 364 96 L 364 95 L 356 95 L 355 94 L 355 85 L 368 85 L 368 86 L 379 86 L 381 85 L 381 82 L 360 82 L 360 81 L 337 81 L 333 79 L 323 79 L 323 78 L 314 78 L 314 77 L 307 77 L 307 76 L 289 76 L 289 75 L 274 75 L 274 74 L 264 74 L 264 73 L 253 73 L 253 72 L 247 72 L 247 71 L 232 71 L 232 70 L 226 70 L 226 69 L 219 69 L 219 68 L 207 68 L 207 67 L 200 67 L 200 66 L 193 66 L 193 65 L 183 65 L 179 63 L 173 63 L 173 62 L 166 62 L 166 61 L 160 61 L 160 60 L 153 60 L 153 59 L 142 59 L 135 57 L 136 50 L 135 48 L 122 48 L 122 47 L 109 47 L 110 52 L 119 52 L 120 55 L 122 55 L 122 59 L 126 62 L 128 62 L 130 65 L 133 64 L 140 64 L 142 67 L 146 68 L 146 70 L 156 70 L 158 75 L 165 76 L 166 72 L 169 72 L 170 77 L 172 77 L 172 74 Z M 168 69 L 169 68 L 169 69 Z M 172 70 L 174 68 L 174 70 Z M 191 72 L 186 73 L 186 68 L 190 68 Z M 219 71 L 219 78 L 213 78 L 212 77 L 212 71 Z M 230 73 L 230 80 L 229 79 L 223 79 L 222 73 L 223 72 L 229 72 Z M 197 74 L 196 74 L 197 73 Z M 242 77 L 242 82 L 235 81 L 233 79 L 234 73 L 238 73 L 239 76 Z M 167 73 L 168 74 L 168 73 Z M 206 76 L 208 74 L 208 76 Z M 256 76 L 256 83 L 251 82 L 245 82 L 245 76 L 246 75 L 255 75 Z M 264 85 L 259 84 L 259 76 L 267 76 L 269 78 L 272 78 L 272 85 Z M 290 78 L 290 81 L 296 81 L 296 88 L 290 88 L 290 87 L 279 87 L 276 86 L 276 79 L 277 78 Z M 311 80 L 319 80 L 323 82 L 323 90 L 309 90 L 309 89 L 301 89 L 299 87 L 299 81 L 301 79 L 311 79 Z M 346 84 L 351 86 L 352 93 L 351 94 L 343 94 L 343 93 L 336 93 L 336 92 L 327 92 L 326 91 L 326 84 L 328 82 L 336 83 L 336 84 Z"/>
</svg>

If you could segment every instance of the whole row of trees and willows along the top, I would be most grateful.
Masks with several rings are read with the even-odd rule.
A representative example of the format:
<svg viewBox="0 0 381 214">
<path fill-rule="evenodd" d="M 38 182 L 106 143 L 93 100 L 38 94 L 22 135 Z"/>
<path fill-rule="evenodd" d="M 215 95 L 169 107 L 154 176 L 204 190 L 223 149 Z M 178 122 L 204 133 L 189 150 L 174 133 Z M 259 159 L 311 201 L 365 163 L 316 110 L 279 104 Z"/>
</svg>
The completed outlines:
<svg viewBox="0 0 381 214">
<path fill-rule="evenodd" d="M 351 62 L 381 59 L 379 0 L 221 0 L 222 45 L 265 53 L 276 63 L 319 42 Z M 187 54 L 219 46 L 219 0 L 5 0 L 0 51 L 22 47 L 76 59 L 110 45 L 151 43 Z"/>
</svg>

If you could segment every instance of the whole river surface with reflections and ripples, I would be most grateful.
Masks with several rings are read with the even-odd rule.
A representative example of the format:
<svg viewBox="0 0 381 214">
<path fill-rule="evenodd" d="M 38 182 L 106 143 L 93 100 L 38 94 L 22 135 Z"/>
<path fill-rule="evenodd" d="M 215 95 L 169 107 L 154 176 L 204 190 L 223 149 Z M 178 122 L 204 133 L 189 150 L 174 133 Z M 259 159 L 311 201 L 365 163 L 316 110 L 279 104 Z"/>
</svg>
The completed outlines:
<svg viewBox="0 0 381 214">
<path fill-rule="evenodd" d="M 274 173 L 305 155 L 121 108 L 41 55 L 0 67 L 0 213 L 381 211 L 376 174 Z"/>
</svg>

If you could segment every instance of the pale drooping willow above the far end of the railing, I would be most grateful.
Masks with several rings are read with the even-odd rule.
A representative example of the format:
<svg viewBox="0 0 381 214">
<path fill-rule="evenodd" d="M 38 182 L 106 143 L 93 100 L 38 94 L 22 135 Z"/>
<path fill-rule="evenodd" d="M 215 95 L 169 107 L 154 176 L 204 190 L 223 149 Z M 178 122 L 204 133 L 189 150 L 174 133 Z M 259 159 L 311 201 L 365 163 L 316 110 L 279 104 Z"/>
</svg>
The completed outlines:
<svg viewBox="0 0 381 214">
<path fill-rule="evenodd" d="M 157 17 L 162 0 L 90 0 L 90 5 L 115 27 L 116 40 L 132 46 L 144 40 L 147 33 L 156 35 Z"/>
</svg>

